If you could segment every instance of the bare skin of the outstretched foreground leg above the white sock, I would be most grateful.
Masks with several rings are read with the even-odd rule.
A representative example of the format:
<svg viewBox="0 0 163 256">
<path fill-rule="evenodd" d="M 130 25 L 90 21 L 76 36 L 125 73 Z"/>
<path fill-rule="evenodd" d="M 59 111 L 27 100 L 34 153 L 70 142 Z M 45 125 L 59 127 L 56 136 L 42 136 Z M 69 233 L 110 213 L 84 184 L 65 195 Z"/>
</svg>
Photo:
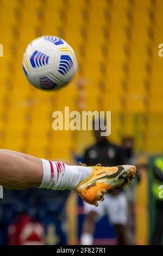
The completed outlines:
<svg viewBox="0 0 163 256">
<path fill-rule="evenodd" d="M 0 149 L 0 185 L 9 189 L 39 187 L 43 178 L 41 159 Z"/>
</svg>

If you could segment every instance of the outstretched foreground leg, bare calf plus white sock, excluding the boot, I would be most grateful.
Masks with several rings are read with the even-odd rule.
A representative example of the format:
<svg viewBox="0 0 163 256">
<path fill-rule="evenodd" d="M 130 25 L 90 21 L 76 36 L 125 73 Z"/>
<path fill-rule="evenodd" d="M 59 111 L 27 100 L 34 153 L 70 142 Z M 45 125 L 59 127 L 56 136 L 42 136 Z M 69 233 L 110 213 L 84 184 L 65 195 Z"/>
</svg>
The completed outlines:
<svg viewBox="0 0 163 256">
<path fill-rule="evenodd" d="M 91 169 L 0 149 L 0 185 L 9 189 L 42 187 L 75 190 L 79 182 L 90 175 Z"/>
</svg>

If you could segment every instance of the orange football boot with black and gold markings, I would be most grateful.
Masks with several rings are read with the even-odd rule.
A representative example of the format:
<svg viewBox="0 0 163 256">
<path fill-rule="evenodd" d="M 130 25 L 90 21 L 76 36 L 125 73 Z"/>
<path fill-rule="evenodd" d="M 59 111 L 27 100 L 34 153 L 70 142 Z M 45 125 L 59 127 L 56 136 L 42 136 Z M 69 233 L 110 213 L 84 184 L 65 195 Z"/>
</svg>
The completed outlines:
<svg viewBox="0 0 163 256">
<path fill-rule="evenodd" d="M 108 190 L 129 186 L 135 174 L 135 166 L 102 167 L 97 164 L 92 166 L 91 175 L 78 184 L 76 191 L 86 203 L 98 206 L 97 201 L 103 201 Z"/>
</svg>

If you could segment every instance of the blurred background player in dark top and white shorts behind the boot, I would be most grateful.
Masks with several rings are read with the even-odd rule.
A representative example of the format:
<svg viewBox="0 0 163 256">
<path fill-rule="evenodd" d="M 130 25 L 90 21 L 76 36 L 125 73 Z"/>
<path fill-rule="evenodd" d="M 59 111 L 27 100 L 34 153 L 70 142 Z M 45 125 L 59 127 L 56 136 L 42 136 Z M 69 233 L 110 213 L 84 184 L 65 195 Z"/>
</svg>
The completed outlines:
<svg viewBox="0 0 163 256">
<path fill-rule="evenodd" d="M 95 120 L 93 123 L 94 134 L 96 143 L 92 147 L 87 148 L 84 154 L 84 163 L 88 166 L 94 166 L 102 163 L 105 166 L 116 166 L 124 164 L 126 161 L 125 152 L 122 147 L 113 144 L 101 136 L 101 127 L 95 130 L 96 122 L 100 124 L 101 120 Z M 127 197 L 123 191 L 110 190 L 105 196 L 104 202 L 99 202 L 96 208 L 94 205 L 89 205 L 84 202 L 84 223 L 83 232 L 81 236 L 82 245 L 93 244 L 93 233 L 95 231 L 96 222 L 108 215 L 111 224 L 114 225 L 117 244 L 126 245 L 127 241 L 127 222 L 128 222 L 128 209 Z"/>
</svg>

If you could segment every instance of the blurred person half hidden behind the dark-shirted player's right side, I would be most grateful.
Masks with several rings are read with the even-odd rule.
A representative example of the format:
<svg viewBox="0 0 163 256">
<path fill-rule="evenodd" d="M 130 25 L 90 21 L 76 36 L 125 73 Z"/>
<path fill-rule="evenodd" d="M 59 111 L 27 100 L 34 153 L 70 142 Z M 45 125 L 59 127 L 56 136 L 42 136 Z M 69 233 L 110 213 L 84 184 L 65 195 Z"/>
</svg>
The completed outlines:
<svg viewBox="0 0 163 256">
<path fill-rule="evenodd" d="M 136 164 L 134 156 L 134 138 L 126 136 L 122 138 L 122 147 L 125 153 L 126 164 Z M 136 179 L 125 190 L 128 201 L 128 241 L 130 245 L 135 244 L 135 200 L 136 200 L 136 184 L 140 181 L 140 175 L 137 173 Z"/>
</svg>

